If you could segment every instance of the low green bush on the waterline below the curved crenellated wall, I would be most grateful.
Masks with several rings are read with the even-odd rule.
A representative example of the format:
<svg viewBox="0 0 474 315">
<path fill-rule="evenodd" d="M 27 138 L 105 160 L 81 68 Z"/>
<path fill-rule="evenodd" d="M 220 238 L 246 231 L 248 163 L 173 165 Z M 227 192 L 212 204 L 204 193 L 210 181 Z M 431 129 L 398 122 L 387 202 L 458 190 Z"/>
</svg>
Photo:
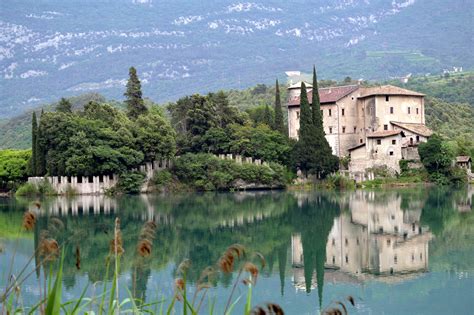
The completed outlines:
<svg viewBox="0 0 474 315">
<path fill-rule="evenodd" d="M 172 169 L 176 178 L 197 190 L 228 190 L 237 182 L 265 186 L 284 186 L 291 175 L 277 163 L 255 165 L 222 160 L 212 154 L 185 154 L 177 159 Z"/>
</svg>

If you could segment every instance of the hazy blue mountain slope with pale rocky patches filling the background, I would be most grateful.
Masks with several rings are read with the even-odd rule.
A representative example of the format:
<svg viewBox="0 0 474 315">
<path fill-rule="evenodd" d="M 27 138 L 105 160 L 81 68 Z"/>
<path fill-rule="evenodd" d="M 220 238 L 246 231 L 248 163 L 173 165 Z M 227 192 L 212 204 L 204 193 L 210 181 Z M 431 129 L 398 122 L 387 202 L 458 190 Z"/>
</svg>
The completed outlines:
<svg viewBox="0 0 474 315">
<path fill-rule="evenodd" d="M 284 79 L 474 67 L 470 0 L 2 0 L 0 118 L 87 92 L 155 101 Z M 471 31 L 469 31 L 471 30 Z"/>
</svg>

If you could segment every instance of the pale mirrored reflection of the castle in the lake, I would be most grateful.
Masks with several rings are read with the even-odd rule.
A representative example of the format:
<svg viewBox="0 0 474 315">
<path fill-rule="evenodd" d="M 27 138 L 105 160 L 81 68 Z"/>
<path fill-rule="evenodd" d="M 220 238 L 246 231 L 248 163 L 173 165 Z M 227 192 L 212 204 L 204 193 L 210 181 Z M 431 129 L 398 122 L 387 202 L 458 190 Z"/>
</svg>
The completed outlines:
<svg viewBox="0 0 474 315">
<path fill-rule="evenodd" d="M 421 206 L 403 210 L 396 194 L 376 201 L 373 192 L 348 196 L 350 211 L 334 219 L 326 244 L 324 280 L 360 283 L 370 279 L 397 282 L 428 270 L 427 227 L 420 225 Z M 293 283 L 299 290 L 307 284 L 301 234 L 291 236 Z M 317 286 L 315 274 L 311 288 Z"/>
</svg>

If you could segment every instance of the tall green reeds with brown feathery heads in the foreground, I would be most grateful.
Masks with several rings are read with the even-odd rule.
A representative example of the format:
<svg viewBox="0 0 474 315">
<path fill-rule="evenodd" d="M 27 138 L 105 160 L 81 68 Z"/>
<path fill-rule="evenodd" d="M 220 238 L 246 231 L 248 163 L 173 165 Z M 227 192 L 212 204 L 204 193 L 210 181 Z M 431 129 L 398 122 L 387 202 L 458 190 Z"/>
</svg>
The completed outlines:
<svg viewBox="0 0 474 315">
<path fill-rule="evenodd" d="M 40 205 L 38 205 L 40 207 Z M 54 229 L 64 227 L 60 219 L 51 219 L 54 222 L 51 226 Z M 24 215 L 22 230 L 32 231 L 36 227 L 37 217 L 34 212 L 27 211 Z M 140 231 L 137 242 L 137 255 L 142 259 L 150 259 L 153 249 L 153 240 L 157 225 L 150 221 L 144 224 Z M 120 220 L 116 218 L 114 235 L 110 241 L 110 251 L 106 256 L 106 272 L 103 279 L 102 290 L 97 296 L 87 296 L 88 286 L 84 287 L 81 295 L 74 300 L 63 301 L 62 282 L 64 256 L 66 247 L 70 246 L 69 240 L 58 244 L 52 237 L 52 232 L 48 229 L 40 232 L 40 242 L 38 248 L 31 255 L 29 261 L 16 274 L 13 272 L 15 254 L 12 255 L 11 266 L 5 290 L 0 293 L 0 303 L 2 304 L 1 314 L 176 314 L 178 309 L 182 309 L 183 315 L 201 314 L 204 302 L 208 299 L 208 314 L 233 313 L 238 303 L 244 303 L 244 315 L 250 314 L 284 314 L 280 306 L 276 304 L 266 304 L 264 306 L 252 307 L 252 294 L 257 285 L 260 271 L 265 268 L 266 262 L 260 253 L 248 253 L 244 246 L 234 244 L 229 246 L 214 266 L 208 266 L 202 270 L 200 277 L 195 284 L 192 295 L 189 294 L 187 273 L 192 268 L 190 260 L 181 262 L 176 270 L 174 281 L 174 293 L 172 297 L 162 296 L 152 302 L 143 301 L 136 298 L 126 286 L 120 283 L 120 259 L 124 253 L 122 233 L 120 230 Z M 61 252 L 61 254 L 59 254 Z M 80 248 L 75 251 L 76 268 L 80 269 Z M 39 264 L 33 270 L 27 271 L 28 266 L 35 257 L 39 257 Z M 43 271 L 43 278 L 41 277 Z M 56 271 L 54 282 L 53 270 Z M 110 273 L 113 273 L 113 280 L 109 283 Z M 216 300 L 209 297 L 209 289 L 212 287 L 212 279 L 219 273 L 237 273 L 232 290 L 226 299 L 225 308 L 217 310 Z M 39 275 L 40 299 L 33 306 L 24 306 L 21 298 L 22 284 L 33 274 Z M 244 286 L 247 290 L 245 296 L 236 296 L 238 286 Z M 124 289 L 125 288 L 125 289 Z M 123 291 L 125 290 L 125 292 Z M 120 298 L 126 294 L 126 298 Z"/>
</svg>

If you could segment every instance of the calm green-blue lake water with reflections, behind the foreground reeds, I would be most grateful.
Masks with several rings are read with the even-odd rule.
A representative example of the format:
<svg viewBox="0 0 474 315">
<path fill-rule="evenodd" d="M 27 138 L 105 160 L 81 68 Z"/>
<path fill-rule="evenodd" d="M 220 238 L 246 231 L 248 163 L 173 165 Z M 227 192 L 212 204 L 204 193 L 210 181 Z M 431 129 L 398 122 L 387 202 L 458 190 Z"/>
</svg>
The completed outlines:
<svg viewBox="0 0 474 315">
<path fill-rule="evenodd" d="M 466 314 L 474 306 L 472 187 L 356 192 L 243 192 L 103 196 L 42 200 L 34 232 L 17 233 L 32 200 L 0 199 L 0 287 L 16 248 L 14 270 L 34 253 L 47 230 L 65 243 L 64 298 L 99 294 L 115 217 L 125 253 L 120 285 L 148 301 L 173 292 L 177 264 L 189 258 L 191 290 L 201 270 L 240 243 L 268 266 L 254 304 L 275 302 L 287 314 L 317 314 L 331 301 L 356 297 L 350 314 Z M 58 220 L 62 223 L 58 223 Z M 137 255 L 143 223 L 158 223 L 150 258 Z M 77 270 L 75 249 L 81 250 Z M 33 270 L 35 259 L 29 266 Z M 236 275 L 220 276 L 209 296 L 222 313 Z M 245 295 L 239 285 L 236 296 Z M 40 296 L 36 274 L 22 300 Z M 207 300 L 204 302 L 207 312 Z M 236 307 L 241 314 L 243 303 Z"/>
</svg>

